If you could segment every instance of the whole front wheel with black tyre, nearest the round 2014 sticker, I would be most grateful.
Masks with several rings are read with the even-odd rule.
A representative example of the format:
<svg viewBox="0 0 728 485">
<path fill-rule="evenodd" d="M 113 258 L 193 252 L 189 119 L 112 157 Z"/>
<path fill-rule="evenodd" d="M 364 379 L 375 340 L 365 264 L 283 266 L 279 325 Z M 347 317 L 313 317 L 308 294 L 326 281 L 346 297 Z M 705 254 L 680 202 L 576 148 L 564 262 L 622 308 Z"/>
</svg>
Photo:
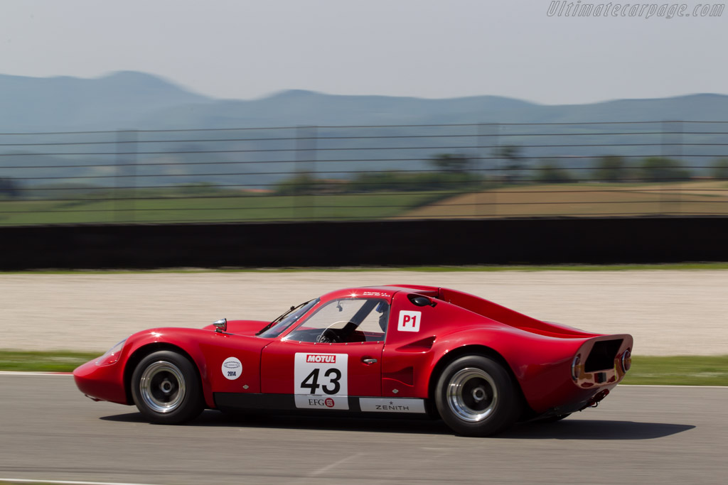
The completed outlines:
<svg viewBox="0 0 728 485">
<path fill-rule="evenodd" d="M 136 366 L 132 398 L 144 417 L 165 425 L 194 420 L 205 408 L 194 365 L 170 350 L 150 353 Z"/>
</svg>

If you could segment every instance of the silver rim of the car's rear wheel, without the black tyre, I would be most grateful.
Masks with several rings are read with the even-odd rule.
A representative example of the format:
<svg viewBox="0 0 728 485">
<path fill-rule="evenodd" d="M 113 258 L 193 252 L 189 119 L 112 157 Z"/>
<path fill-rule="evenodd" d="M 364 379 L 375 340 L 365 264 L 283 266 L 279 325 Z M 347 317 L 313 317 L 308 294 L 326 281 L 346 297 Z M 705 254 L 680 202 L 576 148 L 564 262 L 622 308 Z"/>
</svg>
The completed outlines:
<svg viewBox="0 0 728 485">
<path fill-rule="evenodd" d="M 463 421 L 483 421 L 498 404 L 498 390 L 488 372 L 477 367 L 460 369 L 450 379 L 448 406 Z"/>
</svg>

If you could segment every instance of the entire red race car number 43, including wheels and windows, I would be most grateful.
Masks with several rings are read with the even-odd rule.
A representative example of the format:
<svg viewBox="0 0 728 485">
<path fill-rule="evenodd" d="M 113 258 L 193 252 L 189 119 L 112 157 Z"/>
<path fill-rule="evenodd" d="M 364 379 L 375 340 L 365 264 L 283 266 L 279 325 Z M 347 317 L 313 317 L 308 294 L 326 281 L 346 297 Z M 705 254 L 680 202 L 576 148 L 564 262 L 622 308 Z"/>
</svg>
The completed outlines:
<svg viewBox="0 0 728 485">
<path fill-rule="evenodd" d="M 595 406 L 630 368 L 632 337 L 540 321 L 453 289 L 341 289 L 272 322 L 133 334 L 74 371 L 94 400 L 177 424 L 203 409 L 441 417 L 486 436 Z"/>
</svg>

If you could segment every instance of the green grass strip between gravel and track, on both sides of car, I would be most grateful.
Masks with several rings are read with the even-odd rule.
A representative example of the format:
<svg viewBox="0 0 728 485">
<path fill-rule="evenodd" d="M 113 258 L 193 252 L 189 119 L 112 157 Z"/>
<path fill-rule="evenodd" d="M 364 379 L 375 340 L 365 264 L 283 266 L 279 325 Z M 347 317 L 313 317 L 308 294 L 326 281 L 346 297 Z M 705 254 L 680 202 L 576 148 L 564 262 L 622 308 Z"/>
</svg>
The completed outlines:
<svg viewBox="0 0 728 485">
<path fill-rule="evenodd" d="M 71 372 L 102 352 L 0 350 L 0 371 Z M 634 356 L 624 384 L 725 385 L 727 356 Z"/>
</svg>

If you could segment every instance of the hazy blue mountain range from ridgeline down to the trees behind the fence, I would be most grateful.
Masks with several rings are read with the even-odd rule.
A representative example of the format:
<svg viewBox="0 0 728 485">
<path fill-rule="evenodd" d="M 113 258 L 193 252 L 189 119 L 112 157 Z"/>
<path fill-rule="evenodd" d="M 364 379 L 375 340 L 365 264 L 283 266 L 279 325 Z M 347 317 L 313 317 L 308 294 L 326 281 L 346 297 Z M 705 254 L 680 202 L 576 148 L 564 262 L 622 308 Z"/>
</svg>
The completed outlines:
<svg viewBox="0 0 728 485">
<path fill-rule="evenodd" d="M 0 177 L 11 177 L 29 191 L 44 188 L 63 196 L 70 185 L 93 185 L 89 190 L 98 191 L 126 183 L 136 188 L 215 183 L 269 189 L 304 172 L 346 179 L 371 171 L 427 171 L 430 160 L 443 153 L 466 156 L 474 169 L 492 175 L 507 163 L 498 155 L 504 145 L 517 145 L 527 168 L 555 160 L 579 175 L 606 155 L 627 157 L 630 164 L 673 156 L 702 175 L 715 159 L 727 156 L 725 125 L 685 125 L 682 131 L 670 125 L 665 130 L 660 121 L 668 120 L 728 121 L 728 96 L 539 105 L 498 96 L 428 100 L 291 90 L 257 100 L 218 100 L 137 72 L 99 79 L 0 75 Z M 574 124 L 590 121 L 657 123 Z M 478 123 L 501 125 L 377 127 Z M 509 125 L 527 123 L 556 124 Z M 121 139 L 114 132 L 8 135 L 299 126 L 317 129 L 138 132 Z"/>
</svg>

